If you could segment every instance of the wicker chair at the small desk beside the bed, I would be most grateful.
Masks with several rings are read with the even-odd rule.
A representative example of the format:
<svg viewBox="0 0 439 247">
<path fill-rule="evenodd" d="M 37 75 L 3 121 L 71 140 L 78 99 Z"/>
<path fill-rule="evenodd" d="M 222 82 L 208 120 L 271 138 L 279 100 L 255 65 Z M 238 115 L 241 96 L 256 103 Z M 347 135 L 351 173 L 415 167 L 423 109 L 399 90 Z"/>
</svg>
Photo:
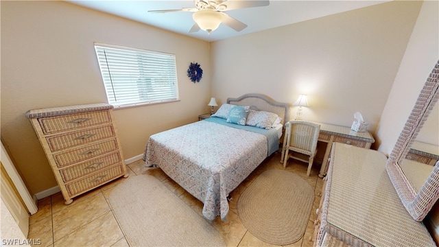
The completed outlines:
<svg viewBox="0 0 439 247">
<path fill-rule="evenodd" d="M 283 139 L 281 163 L 283 163 L 283 167 L 285 168 L 287 167 L 288 158 L 306 162 L 308 163 L 307 176 L 309 176 L 314 156 L 316 156 L 317 153 L 320 125 L 307 121 L 289 121 L 286 124 L 286 128 L 285 137 Z"/>
</svg>

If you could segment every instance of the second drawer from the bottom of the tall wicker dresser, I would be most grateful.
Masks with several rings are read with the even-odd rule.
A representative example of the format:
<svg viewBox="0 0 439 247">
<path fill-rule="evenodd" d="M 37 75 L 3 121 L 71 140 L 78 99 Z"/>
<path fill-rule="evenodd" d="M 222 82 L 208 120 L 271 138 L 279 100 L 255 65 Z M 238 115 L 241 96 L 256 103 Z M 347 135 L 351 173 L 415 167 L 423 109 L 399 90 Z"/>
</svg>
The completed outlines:
<svg viewBox="0 0 439 247">
<path fill-rule="evenodd" d="M 90 161 L 86 161 L 66 169 L 60 169 L 60 174 L 62 176 L 62 180 L 67 183 L 71 180 L 75 180 L 76 178 L 99 171 L 100 169 L 105 169 L 111 165 L 121 163 L 121 161 L 121 155 L 119 152 L 113 152 L 111 154 L 107 154 L 106 156 L 93 158 Z"/>
</svg>

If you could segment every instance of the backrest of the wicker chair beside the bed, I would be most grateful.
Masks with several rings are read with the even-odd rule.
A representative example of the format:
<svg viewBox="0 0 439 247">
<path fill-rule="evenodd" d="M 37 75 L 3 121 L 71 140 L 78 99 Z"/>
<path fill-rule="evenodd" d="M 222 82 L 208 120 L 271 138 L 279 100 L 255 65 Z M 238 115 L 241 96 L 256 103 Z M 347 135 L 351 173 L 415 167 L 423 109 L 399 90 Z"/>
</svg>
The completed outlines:
<svg viewBox="0 0 439 247">
<path fill-rule="evenodd" d="M 307 154 L 316 152 L 320 125 L 307 121 L 289 121 L 287 123 L 287 142 L 289 147 L 306 151 Z"/>
</svg>

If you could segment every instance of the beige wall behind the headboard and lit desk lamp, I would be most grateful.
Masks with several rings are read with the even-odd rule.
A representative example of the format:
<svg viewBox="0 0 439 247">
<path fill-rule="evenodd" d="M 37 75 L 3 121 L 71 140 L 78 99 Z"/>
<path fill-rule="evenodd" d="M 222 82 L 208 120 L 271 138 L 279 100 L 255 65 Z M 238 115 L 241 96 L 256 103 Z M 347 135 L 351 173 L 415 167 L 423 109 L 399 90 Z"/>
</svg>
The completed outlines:
<svg viewBox="0 0 439 247">
<path fill-rule="evenodd" d="M 212 94 L 294 103 L 303 93 L 304 119 L 351 126 L 359 111 L 375 132 L 420 5 L 392 1 L 215 42 Z"/>
</svg>

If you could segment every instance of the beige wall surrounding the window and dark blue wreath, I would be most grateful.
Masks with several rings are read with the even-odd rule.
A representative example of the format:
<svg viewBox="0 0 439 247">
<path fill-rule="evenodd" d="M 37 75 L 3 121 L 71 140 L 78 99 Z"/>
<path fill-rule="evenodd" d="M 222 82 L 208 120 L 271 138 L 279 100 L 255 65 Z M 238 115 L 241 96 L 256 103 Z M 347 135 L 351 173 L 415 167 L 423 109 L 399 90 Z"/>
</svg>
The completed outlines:
<svg viewBox="0 0 439 247">
<path fill-rule="evenodd" d="M 62 1 L 1 1 L 1 139 L 29 190 L 56 186 L 25 112 L 106 102 L 93 42 L 176 54 L 180 102 L 115 110 L 125 158 L 143 153 L 150 134 L 209 112 L 209 44 Z M 190 62 L 204 69 L 187 78 Z"/>
</svg>

